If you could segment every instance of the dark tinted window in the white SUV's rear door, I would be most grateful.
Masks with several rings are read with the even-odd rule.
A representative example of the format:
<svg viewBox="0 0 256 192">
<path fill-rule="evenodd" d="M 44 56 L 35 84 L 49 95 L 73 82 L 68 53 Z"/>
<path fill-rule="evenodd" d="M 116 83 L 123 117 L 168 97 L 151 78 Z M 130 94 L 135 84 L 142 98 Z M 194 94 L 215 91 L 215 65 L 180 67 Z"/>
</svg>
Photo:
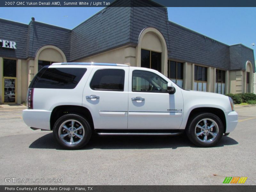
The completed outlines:
<svg viewBox="0 0 256 192">
<path fill-rule="evenodd" d="M 93 90 L 124 91 L 123 69 L 99 69 L 92 77 L 90 87 Z"/>
</svg>

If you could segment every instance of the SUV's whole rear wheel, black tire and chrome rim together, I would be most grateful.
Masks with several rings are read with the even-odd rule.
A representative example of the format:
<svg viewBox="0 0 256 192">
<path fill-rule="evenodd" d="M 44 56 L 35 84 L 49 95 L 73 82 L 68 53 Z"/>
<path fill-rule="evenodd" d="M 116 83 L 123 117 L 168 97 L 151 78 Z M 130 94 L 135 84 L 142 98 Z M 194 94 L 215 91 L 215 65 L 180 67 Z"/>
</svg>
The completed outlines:
<svg viewBox="0 0 256 192">
<path fill-rule="evenodd" d="M 92 129 L 84 117 L 77 114 L 68 114 L 61 116 L 55 122 L 53 135 L 61 147 L 65 149 L 79 149 L 84 147 L 90 140 Z"/>
</svg>

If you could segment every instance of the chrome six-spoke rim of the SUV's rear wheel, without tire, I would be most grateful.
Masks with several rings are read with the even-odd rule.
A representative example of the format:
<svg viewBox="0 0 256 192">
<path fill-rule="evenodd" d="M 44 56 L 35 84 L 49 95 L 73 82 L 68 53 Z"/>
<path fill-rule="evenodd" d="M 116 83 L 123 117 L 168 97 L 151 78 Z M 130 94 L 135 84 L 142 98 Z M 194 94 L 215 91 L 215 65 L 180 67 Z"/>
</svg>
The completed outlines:
<svg viewBox="0 0 256 192">
<path fill-rule="evenodd" d="M 84 138 L 84 126 L 77 120 L 64 121 L 59 127 L 60 139 L 68 145 L 76 145 Z"/>
</svg>

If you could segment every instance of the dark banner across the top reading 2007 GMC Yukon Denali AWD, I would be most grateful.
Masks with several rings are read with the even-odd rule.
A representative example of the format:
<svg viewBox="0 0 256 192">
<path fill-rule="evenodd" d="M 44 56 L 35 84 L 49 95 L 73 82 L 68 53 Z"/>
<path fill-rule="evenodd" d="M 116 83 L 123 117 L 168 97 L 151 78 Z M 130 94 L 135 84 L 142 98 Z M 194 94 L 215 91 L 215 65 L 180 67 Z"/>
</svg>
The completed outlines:
<svg viewBox="0 0 256 192">
<path fill-rule="evenodd" d="M 0 7 L 256 7 L 256 0 L 1 0 Z"/>
</svg>

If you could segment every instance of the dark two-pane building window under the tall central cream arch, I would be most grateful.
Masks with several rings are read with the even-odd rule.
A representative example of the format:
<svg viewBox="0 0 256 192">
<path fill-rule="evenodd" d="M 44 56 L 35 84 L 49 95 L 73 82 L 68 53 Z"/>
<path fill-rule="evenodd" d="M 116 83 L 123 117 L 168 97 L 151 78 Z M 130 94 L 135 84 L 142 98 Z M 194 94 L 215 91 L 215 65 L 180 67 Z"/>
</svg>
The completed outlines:
<svg viewBox="0 0 256 192">
<path fill-rule="evenodd" d="M 161 53 L 141 49 L 141 67 L 161 72 Z"/>
</svg>

